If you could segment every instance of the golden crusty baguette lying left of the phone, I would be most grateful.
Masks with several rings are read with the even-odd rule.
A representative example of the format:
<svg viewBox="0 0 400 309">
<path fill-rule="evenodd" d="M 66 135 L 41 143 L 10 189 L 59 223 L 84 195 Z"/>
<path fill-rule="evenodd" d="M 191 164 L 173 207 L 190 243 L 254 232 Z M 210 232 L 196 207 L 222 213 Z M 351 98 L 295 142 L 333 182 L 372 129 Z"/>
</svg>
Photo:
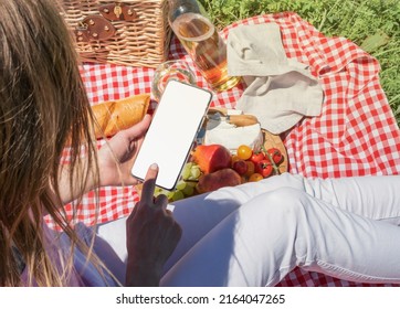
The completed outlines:
<svg viewBox="0 0 400 309">
<path fill-rule="evenodd" d="M 110 137 L 139 122 L 147 114 L 149 94 L 134 95 L 124 99 L 108 100 L 92 106 L 96 120 L 95 137 Z"/>
</svg>

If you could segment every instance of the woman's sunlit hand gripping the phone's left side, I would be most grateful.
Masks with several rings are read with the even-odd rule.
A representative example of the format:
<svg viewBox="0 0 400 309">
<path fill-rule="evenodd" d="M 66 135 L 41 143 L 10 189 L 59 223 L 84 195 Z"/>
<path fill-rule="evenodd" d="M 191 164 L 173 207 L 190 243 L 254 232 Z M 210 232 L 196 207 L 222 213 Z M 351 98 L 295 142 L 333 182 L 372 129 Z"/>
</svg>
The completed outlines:
<svg viewBox="0 0 400 309">
<path fill-rule="evenodd" d="M 119 131 L 98 151 L 101 185 L 137 184 L 130 169 L 135 162 L 143 138 L 150 125 L 151 116 L 129 129 Z"/>
</svg>

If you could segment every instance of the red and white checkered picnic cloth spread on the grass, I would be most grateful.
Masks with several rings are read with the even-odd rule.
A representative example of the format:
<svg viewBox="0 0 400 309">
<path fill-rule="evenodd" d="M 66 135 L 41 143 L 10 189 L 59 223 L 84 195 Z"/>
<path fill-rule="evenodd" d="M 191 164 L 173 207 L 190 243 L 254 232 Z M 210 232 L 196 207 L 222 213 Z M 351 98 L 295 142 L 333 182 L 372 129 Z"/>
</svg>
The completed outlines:
<svg viewBox="0 0 400 309">
<path fill-rule="evenodd" d="M 325 92 L 319 117 L 304 118 L 283 141 L 287 148 L 290 172 L 305 177 L 339 178 L 400 172 L 400 130 L 379 83 L 379 63 L 344 38 L 326 38 L 296 13 L 267 14 L 239 21 L 239 24 L 275 22 L 281 26 L 288 58 L 308 64 Z M 198 85 L 209 88 L 192 61 L 173 38 L 170 58 L 181 58 L 196 72 Z M 105 64 L 84 64 L 82 76 L 93 105 L 150 93 L 152 68 Z M 215 94 L 212 106 L 234 108 L 243 85 Z M 155 107 L 151 102 L 150 108 Z M 171 115 L 173 117 L 173 115 Z M 178 117 L 178 115 L 177 115 Z M 67 156 L 64 158 L 67 161 Z M 98 222 L 130 213 L 138 195 L 133 188 L 99 190 Z M 78 220 L 93 224 L 95 194 L 84 196 Z M 67 213 L 71 207 L 66 206 Z M 280 286 L 366 286 L 296 268 Z M 371 285 L 368 285 L 371 286 Z"/>
</svg>

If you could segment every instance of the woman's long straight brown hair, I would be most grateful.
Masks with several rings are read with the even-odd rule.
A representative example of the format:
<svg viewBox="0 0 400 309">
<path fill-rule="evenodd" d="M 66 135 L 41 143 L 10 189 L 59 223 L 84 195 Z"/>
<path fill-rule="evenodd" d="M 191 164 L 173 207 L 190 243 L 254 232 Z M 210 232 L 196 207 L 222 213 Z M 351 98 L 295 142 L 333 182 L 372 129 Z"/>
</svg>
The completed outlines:
<svg viewBox="0 0 400 309">
<path fill-rule="evenodd" d="M 1 286 L 21 285 L 15 252 L 29 269 L 30 284 L 67 284 L 69 271 L 60 274 L 46 253 L 42 226 L 48 213 L 76 242 L 59 191 L 60 159 L 69 138 L 70 187 L 84 192 L 88 171 L 97 170 L 88 100 L 71 34 L 54 2 L 0 1 Z M 80 168 L 83 152 L 87 169 Z M 76 177 L 76 171 L 83 174 Z"/>
</svg>

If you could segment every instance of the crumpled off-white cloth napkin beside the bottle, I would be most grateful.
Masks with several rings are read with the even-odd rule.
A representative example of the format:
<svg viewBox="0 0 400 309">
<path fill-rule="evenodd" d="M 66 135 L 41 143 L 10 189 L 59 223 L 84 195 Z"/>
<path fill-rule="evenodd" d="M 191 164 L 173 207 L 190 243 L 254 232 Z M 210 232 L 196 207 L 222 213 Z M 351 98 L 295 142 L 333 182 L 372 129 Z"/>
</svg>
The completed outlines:
<svg viewBox="0 0 400 309">
<path fill-rule="evenodd" d="M 240 25 L 228 35 L 228 73 L 248 84 L 236 108 L 281 134 L 304 116 L 318 116 L 324 92 L 305 64 L 286 57 L 276 23 Z"/>
</svg>

